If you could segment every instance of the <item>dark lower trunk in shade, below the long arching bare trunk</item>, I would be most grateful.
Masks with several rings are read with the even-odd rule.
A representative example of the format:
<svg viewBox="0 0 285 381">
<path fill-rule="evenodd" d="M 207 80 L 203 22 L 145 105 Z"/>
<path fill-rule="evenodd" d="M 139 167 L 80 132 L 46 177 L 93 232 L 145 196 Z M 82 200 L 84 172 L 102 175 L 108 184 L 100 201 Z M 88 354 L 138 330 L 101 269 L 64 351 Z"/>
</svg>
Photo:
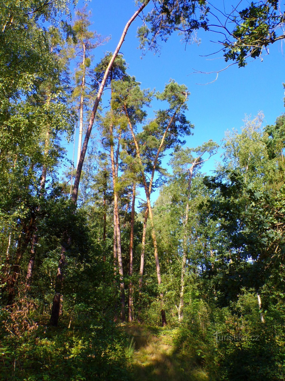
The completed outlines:
<svg viewBox="0 0 285 381">
<path fill-rule="evenodd" d="M 57 267 L 57 274 L 55 280 L 55 295 L 52 302 L 52 311 L 50 324 L 54 327 L 57 326 L 59 321 L 59 312 L 60 312 L 60 297 L 62 292 L 62 283 L 63 283 L 63 269 L 65 266 L 65 256 L 66 251 L 70 247 L 71 239 L 68 237 L 67 243 L 63 242 L 61 246 L 61 253 L 59 259 L 59 266 Z"/>
</svg>

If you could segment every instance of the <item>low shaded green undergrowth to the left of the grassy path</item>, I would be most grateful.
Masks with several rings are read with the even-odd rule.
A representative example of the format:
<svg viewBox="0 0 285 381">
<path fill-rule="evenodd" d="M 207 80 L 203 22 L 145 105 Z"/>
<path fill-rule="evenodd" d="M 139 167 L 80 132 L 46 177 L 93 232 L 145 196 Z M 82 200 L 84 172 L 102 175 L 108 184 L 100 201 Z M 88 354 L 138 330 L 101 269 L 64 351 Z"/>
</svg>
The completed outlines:
<svg viewBox="0 0 285 381">
<path fill-rule="evenodd" d="M 9 336 L 1 341 L 3 381 L 130 379 L 125 369 L 130 344 L 111 322 L 84 330 L 36 327 L 17 342 Z"/>
</svg>

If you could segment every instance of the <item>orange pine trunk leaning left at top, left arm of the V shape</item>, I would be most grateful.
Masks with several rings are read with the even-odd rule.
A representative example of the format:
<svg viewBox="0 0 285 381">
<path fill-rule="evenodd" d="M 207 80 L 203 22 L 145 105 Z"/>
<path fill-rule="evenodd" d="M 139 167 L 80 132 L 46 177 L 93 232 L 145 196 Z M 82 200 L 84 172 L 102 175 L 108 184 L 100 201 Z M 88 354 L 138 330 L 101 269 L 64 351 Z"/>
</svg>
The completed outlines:
<svg viewBox="0 0 285 381">
<path fill-rule="evenodd" d="M 144 190 L 146 192 L 147 208 L 149 210 L 149 219 L 150 219 L 150 224 L 151 224 L 151 228 L 152 228 L 152 242 L 154 244 L 154 257 L 155 257 L 155 268 L 156 268 L 156 273 L 157 273 L 157 281 L 158 281 L 158 285 L 160 286 L 161 285 L 160 265 L 159 265 L 159 259 L 158 259 L 158 251 L 157 251 L 157 239 L 156 239 L 155 229 L 154 229 L 154 218 L 153 218 L 152 208 L 151 208 L 151 204 L 150 204 L 150 194 L 149 194 L 149 189 L 147 187 L 146 176 L 144 174 L 144 169 L 143 169 L 143 165 L 142 165 L 142 161 L 141 161 L 141 155 L 139 152 L 139 145 L 138 145 L 138 142 L 136 140 L 136 136 L 134 134 L 133 126 L 131 125 L 130 118 L 128 117 L 127 110 L 125 109 L 125 111 L 126 111 L 126 115 L 128 118 L 130 130 L 131 130 L 131 135 L 132 135 L 133 141 L 135 143 L 136 154 L 137 154 L 138 159 L 139 159 L 139 164 L 141 165 L 142 181 L 144 183 Z M 163 293 L 162 292 L 160 292 L 160 302 L 161 302 L 161 323 L 163 326 L 165 326 L 166 325 L 166 315 L 165 315 L 165 310 L 163 307 Z"/>
</svg>

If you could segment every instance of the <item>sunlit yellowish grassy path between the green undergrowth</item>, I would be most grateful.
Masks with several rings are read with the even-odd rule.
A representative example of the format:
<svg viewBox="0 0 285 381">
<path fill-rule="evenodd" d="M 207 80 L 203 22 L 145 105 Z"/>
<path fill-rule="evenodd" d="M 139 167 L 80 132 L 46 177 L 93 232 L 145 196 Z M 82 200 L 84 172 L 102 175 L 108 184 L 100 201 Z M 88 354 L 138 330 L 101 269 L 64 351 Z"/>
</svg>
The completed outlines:
<svg viewBox="0 0 285 381">
<path fill-rule="evenodd" d="M 173 343 L 176 328 L 150 328 L 126 326 L 125 331 L 133 338 L 131 357 L 133 378 L 136 381 L 207 381 L 209 377 L 202 366 Z"/>
</svg>

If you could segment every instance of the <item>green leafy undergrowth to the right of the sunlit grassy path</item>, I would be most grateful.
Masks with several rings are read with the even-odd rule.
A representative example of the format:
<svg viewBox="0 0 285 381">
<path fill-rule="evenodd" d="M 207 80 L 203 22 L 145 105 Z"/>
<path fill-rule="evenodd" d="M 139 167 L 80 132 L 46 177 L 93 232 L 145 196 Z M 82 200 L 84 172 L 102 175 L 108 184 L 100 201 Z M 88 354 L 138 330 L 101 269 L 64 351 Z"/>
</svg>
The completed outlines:
<svg viewBox="0 0 285 381">
<path fill-rule="evenodd" d="M 234 311 L 215 309 L 213 314 L 203 300 L 194 297 L 174 343 L 190 352 L 212 379 L 283 379 L 282 309 L 268 311 L 266 327 L 258 319 L 253 295 L 244 295 Z"/>
</svg>

